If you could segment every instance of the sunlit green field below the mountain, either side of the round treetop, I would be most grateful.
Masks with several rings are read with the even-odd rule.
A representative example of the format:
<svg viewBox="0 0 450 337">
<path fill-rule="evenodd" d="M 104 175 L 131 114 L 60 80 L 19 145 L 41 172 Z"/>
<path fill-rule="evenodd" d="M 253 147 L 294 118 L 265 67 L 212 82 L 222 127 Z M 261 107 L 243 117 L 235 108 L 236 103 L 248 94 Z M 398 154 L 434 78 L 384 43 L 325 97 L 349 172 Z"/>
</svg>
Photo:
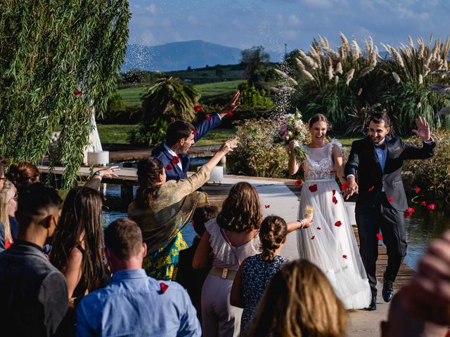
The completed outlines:
<svg viewBox="0 0 450 337">
<path fill-rule="evenodd" d="M 198 88 L 202 94 L 202 100 L 209 100 L 217 96 L 231 96 L 233 91 L 236 91 L 238 85 L 242 80 L 238 81 L 224 81 L 217 83 L 198 84 L 195 87 Z M 136 86 L 133 88 L 119 89 L 120 97 L 124 101 L 125 105 L 141 105 L 141 95 L 146 90 L 145 86 Z"/>
</svg>

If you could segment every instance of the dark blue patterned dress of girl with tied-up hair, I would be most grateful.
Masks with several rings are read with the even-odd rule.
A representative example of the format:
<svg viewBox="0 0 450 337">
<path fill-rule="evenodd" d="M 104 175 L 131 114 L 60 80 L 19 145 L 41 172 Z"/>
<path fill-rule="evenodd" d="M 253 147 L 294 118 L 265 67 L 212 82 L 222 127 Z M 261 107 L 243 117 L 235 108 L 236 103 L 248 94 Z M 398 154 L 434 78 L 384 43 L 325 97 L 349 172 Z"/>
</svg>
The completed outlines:
<svg viewBox="0 0 450 337">
<path fill-rule="evenodd" d="M 274 256 L 273 262 L 262 260 L 262 254 L 250 256 L 244 262 L 242 272 L 242 288 L 240 291 L 244 299 L 244 311 L 240 319 L 240 336 L 245 336 L 248 324 L 252 319 L 259 299 L 271 278 L 288 262 L 288 258 Z"/>
</svg>

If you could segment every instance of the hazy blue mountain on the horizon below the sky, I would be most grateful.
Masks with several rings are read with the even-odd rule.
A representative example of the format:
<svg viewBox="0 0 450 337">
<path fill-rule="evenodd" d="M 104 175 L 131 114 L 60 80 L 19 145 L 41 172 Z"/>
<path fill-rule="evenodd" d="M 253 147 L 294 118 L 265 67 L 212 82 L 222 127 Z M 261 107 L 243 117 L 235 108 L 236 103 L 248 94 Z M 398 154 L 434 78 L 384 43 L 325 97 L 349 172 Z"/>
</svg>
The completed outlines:
<svg viewBox="0 0 450 337">
<path fill-rule="evenodd" d="M 161 46 L 129 44 L 122 72 L 130 69 L 168 72 L 206 65 L 233 65 L 240 61 L 240 49 L 195 40 Z"/>
</svg>

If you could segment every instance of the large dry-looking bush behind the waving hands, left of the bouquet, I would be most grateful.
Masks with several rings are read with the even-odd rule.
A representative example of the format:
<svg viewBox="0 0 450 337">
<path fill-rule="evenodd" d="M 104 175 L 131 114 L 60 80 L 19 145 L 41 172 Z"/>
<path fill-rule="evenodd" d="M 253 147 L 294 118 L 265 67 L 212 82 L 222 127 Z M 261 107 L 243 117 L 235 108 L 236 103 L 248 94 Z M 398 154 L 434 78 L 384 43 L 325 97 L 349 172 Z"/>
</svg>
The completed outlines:
<svg viewBox="0 0 450 337">
<path fill-rule="evenodd" d="M 278 125 L 272 119 L 251 119 L 236 126 L 239 145 L 231 152 L 231 173 L 246 176 L 285 178 L 288 151 L 275 143 Z"/>
</svg>

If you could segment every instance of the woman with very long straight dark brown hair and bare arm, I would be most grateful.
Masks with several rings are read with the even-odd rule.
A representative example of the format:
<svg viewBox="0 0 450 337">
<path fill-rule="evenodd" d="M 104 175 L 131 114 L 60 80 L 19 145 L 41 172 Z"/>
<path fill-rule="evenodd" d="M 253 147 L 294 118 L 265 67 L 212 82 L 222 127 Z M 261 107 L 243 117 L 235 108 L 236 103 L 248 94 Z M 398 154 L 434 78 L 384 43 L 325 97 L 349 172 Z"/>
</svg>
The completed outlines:
<svg viewBox="0 0 450 337">
<path fill-rule="evenodd" d="M 68 284 L 70 308 L 63 322 L 65 335 L 75 335 L 75 309 L 86 293 L 101 286 L 103 227 L 101 193 L 89 187 L 74 187 L 63 204 L 52 240 L 50 260 Z"/>
</svg>

